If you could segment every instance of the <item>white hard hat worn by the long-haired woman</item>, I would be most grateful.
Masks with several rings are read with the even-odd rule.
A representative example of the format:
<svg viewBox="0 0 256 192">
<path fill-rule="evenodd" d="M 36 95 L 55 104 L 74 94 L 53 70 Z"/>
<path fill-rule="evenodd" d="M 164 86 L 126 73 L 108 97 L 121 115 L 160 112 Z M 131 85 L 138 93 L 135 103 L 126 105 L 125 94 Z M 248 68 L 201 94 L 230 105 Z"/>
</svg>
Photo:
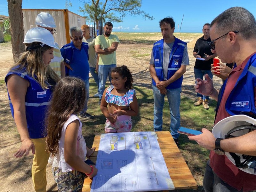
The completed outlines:
<svg viewBox="0 0 256 192">
<path fill-rule="evenodd" d="M 50 47 L 59 49 L 55 45 L 55 41 L 54 41 L 54 38 L 53 38 L 51 32 L 45 28 L 35 27 L 35 28 L 31 28 L 28 30 L 28 32 L 25 35 L 23 43 L 29 44 L 29 43 L 33 43 L 33 42 L 42 43 L 41 44 L 42 47 L 46 44 Z"/>
</svg>

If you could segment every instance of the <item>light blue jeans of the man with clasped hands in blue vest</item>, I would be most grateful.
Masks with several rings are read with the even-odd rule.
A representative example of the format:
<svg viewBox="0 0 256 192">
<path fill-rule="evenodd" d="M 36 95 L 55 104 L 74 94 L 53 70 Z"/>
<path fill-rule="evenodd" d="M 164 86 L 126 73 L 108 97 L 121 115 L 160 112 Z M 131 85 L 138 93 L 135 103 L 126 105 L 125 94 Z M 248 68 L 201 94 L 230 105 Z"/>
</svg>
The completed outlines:
<svg viewBox="0 0 256 192">
<path fill-rule="evenodd" d="M 166 89 L 167 99 L 170 107 L 171 124 L 170 131 L 174 139 L 178 139 L 180 133 L 178 129 L 180 128 L 180 92 L 181 87 L 177 89 Z M 154 94 L 154 130 L 162 131 L 163 125 L 163 108 L 164 108 L 164 97 L 160 91 L 153 85 Z"/>
</svg>

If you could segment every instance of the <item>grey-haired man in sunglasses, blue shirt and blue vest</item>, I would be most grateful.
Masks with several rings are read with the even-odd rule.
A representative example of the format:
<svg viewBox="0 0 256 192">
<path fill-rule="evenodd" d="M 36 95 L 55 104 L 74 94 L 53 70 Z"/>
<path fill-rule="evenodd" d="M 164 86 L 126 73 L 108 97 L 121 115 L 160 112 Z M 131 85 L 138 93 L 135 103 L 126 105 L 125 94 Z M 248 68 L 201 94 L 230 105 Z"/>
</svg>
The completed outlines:
<svg viewBox="0 0 256 192">
<path fill-rule="evenodd" d="M 93 116 L 86 112 L 89 99 L 89 46 L 88 43 L 83 42 L 83 32 L 81 28 L 70 28 L 69 35 L 71 43 L 64 45 L 60 49 L 66 66 L 66 75 L 84 80 L 86 98 L 84 108 L 80 112 L 79 117 L 92 119 Z"/>
</svg>

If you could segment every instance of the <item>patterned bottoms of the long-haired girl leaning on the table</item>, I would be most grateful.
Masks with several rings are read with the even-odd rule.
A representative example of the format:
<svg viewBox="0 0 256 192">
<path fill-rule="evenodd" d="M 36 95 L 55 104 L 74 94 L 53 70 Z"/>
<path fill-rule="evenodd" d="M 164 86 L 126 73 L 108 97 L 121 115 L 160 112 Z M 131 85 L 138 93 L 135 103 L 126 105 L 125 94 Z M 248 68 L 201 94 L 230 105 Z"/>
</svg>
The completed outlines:
<svg viewBox="0 0 256 192">
<path fill-rule="evenodd" d="M 85 163 L 95 165 L 90 159 L 87 159 Z M 52 174 L 57 183 L 58 191 L 61 192 L 81 191 L 84 179 L 87 177 L 85 173 L 77 170 L 62 172 L 59 167 L 52 167 Z"/>
</svg>

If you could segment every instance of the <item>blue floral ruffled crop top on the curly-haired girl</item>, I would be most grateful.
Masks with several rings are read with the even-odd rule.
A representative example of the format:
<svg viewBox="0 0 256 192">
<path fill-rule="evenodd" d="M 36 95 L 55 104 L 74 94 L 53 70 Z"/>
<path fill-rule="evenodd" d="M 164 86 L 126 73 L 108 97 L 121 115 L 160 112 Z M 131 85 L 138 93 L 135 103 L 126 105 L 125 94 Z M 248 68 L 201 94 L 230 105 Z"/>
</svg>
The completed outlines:
<svg viewBox="0 0 256 192">
<path fill-rule="evenodd" d="M 136 94 L 134 89 L 130 89 L 124 96 L 113 95 L 111 91 L 114 89 L 113 85 L 108 87 L 106 91 L 105 100 L 107 103 L 115 104 L 118 106 L 130 106 L 133 101 L 133 95 Z"/>
</svg>

